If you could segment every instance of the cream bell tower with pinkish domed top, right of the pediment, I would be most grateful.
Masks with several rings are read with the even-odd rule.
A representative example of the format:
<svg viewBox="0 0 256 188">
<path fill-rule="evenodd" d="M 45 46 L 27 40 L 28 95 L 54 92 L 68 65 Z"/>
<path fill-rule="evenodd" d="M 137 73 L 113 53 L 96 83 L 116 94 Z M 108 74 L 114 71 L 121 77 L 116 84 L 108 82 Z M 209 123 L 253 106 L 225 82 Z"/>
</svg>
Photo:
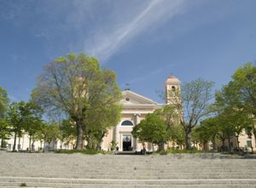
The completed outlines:
<svg viewBox="0 0 256 188">
<path fill-rule="evenodd" d="M 180 100 L 180 86 L 181 82 L 177 77 L 170 76 L 165 82 L 166 90 L 166 104 L 176 104 Z"/>
</svg>

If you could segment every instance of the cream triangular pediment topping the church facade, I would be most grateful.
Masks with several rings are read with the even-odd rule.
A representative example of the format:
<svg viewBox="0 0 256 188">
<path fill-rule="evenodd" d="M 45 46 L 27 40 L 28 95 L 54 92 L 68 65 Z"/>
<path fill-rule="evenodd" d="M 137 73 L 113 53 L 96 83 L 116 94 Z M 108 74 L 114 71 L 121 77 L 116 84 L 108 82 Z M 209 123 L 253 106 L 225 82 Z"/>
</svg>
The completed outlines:
<svg viewBox="0 0 256 188">
<path fill-rule="evenodd" d="M 156 105 L 157 102 L 150 100 L 143 95 L 136 94 L 130 90 L 125 90 L 122 92 L 123 99 L 120 101 L 123 105 Z"/>
</svg>

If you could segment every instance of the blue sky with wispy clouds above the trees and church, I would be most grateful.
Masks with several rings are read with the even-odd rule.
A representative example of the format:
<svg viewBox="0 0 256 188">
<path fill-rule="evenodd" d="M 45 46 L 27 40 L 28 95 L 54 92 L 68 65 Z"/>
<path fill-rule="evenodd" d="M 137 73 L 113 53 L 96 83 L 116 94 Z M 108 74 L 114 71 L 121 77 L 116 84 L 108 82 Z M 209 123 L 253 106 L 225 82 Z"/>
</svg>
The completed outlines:
<svg viewBox="0 0 256 188">
<path fill-rule="evenodd" d="M 162 102 L 174 74 L 230 81 L 256 62 L 254 0 L 0 0 L 0 86 L 29 100 L 44 66 L 83 52 L 116 71 L 121 89 Z"/>
</svg>

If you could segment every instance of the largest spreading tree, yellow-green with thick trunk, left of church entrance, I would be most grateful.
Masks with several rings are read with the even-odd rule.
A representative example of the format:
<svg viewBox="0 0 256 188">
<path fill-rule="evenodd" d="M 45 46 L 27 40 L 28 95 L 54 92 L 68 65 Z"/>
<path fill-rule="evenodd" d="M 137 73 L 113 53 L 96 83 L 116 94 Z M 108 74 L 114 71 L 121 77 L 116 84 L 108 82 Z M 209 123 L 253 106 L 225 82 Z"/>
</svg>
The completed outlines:
<svg viewBox="0 0 256 188">
<path fill-rule="evenodd" d="M 50 112 L 61 111 L 75 122 L 76 149 L 84 147 L 90 111 L 118 105 L 120 98 L 114 72 L 102 70 L 95 58 L 85 54 L 67 54 L 51 62 L 32 91 L 38 105 Z"/>
</svg>

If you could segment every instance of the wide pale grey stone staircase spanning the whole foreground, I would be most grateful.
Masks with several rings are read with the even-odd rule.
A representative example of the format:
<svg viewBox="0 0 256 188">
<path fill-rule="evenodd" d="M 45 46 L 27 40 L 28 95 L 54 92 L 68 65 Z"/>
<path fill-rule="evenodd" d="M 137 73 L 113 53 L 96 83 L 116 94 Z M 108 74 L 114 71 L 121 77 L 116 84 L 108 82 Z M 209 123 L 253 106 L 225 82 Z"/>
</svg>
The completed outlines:
<svg viewBox="0 0 256 188">
<path fill-rule="evenodd" d="M 0 187 L 253 187 L 256 160 L 219 154 L 0 152 Z"/>
</svg>

